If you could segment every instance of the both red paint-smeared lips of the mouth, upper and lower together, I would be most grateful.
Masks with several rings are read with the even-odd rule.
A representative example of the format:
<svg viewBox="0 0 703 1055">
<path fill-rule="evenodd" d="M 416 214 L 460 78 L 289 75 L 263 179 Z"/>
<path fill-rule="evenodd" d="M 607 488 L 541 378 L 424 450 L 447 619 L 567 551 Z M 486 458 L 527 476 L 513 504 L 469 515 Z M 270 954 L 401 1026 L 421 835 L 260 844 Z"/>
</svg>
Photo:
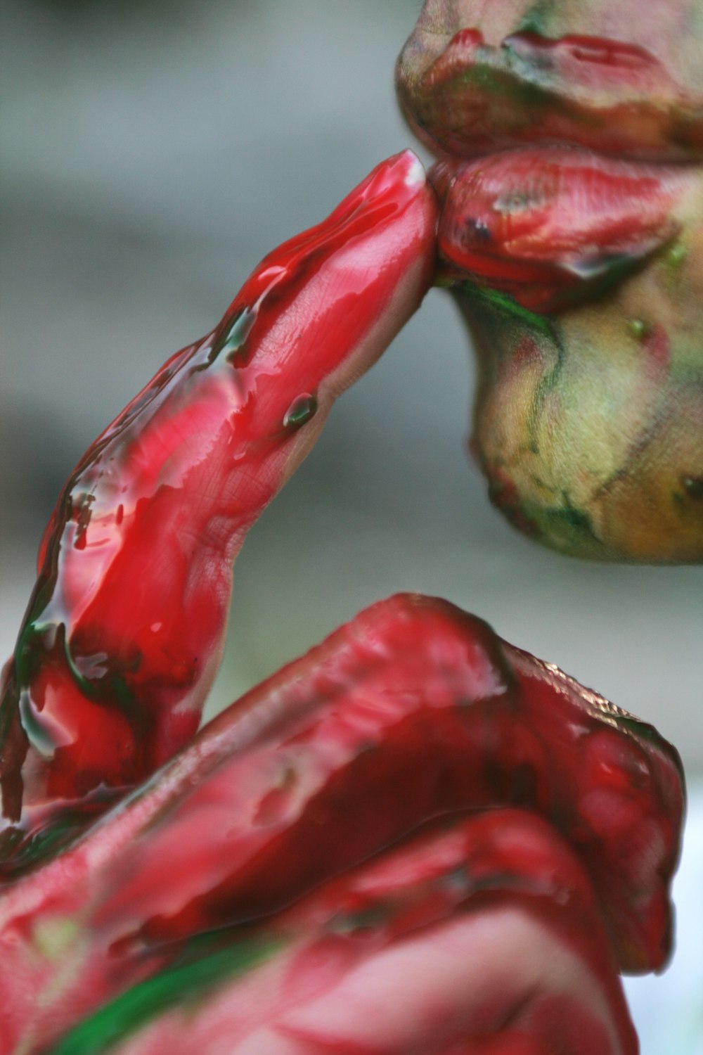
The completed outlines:
<svg viewBox="0 0 703 1055">
<path fill-rule="evenodd" d="M 703 100 L 646 49 L 460 30 L 428 63 L 398 61 L 398 94 L 443 159 L 440 282 L 472 280 L 531 311 L 590 298 L 673 238 L 703 157 Z M 688 162 L 688 164 L 682 164 Z"/>
</svg>

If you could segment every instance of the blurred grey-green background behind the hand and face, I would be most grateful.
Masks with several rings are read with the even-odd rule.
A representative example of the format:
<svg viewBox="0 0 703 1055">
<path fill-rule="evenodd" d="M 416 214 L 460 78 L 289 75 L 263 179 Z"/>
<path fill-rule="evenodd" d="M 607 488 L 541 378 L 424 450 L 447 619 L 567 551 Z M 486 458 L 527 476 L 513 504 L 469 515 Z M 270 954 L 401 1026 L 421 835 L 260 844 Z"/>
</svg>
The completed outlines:
<svg viewBox="0 0 703 1055">
<path fill-rule="evenodd" d="M 411 137 L 419 0 L 3 0 L 0 650 L 69 472 L 254 264 Z M 630 997 L 643 1055 L 703 1052 L 703 569 L 569 561 L 465 450 L 472 366 L 431 292 L 252 531 L 210 712 L 398 590 L 448 597 L 653 722 L 692 787 L 680 952 Z"/>
</svg>

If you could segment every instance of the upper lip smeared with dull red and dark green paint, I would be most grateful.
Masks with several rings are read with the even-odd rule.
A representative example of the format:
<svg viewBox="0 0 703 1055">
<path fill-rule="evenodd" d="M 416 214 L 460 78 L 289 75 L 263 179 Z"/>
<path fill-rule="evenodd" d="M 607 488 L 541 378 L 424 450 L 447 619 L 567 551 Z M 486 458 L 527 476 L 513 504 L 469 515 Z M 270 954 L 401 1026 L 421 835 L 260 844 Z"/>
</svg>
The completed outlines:
<svg viewBox="0 0 703 1055">
<path fill-rule="evenodd" d="M 411 37 L 396 84 L 413 131 L 444 156 L 571 143 L 618 157 L 703 159 L 703 98 L 637 44 L 512 33 L 494 47 L 467 27 L 434 60 Z"/>
</svg>

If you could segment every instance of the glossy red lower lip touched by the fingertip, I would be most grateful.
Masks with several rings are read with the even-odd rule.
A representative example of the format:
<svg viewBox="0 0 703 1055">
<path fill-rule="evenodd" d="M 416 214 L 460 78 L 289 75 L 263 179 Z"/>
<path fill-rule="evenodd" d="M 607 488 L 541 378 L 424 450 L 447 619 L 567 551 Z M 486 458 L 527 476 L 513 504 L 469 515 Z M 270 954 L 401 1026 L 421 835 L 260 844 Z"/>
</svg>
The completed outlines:
<svg viewBox="0 0 703 1055">
<path fill-rule="evenodd" d="M 670 241 L 686 174 L 568 148 L 440 162 L 440 274 L 549 313 L 592 296 Z"/>
</svg>

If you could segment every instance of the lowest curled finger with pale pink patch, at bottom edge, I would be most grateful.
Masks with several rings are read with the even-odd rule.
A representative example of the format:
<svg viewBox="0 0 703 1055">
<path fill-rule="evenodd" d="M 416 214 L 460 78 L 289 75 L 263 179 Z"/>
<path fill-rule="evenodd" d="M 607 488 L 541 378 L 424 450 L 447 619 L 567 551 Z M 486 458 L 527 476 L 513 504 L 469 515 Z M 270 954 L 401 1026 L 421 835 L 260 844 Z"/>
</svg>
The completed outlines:
<svg viewBox="0 0 703 1055">
<path fill-rule="evenodd" d="M 172 993 L 143 1029 L 113 1013 L 116 1052 L 207 1055 L 224 1038 L 240 1055 L 637 1051 L 588 877 L 529 813 L 435 823 L 253 934 L 263 954 L 243 975 L 185 1004 Z M 200 963 L 251 940 L 213 936 Z M 86 1028 L 101 1037 L 99 1019 Z"/>
</svg>

